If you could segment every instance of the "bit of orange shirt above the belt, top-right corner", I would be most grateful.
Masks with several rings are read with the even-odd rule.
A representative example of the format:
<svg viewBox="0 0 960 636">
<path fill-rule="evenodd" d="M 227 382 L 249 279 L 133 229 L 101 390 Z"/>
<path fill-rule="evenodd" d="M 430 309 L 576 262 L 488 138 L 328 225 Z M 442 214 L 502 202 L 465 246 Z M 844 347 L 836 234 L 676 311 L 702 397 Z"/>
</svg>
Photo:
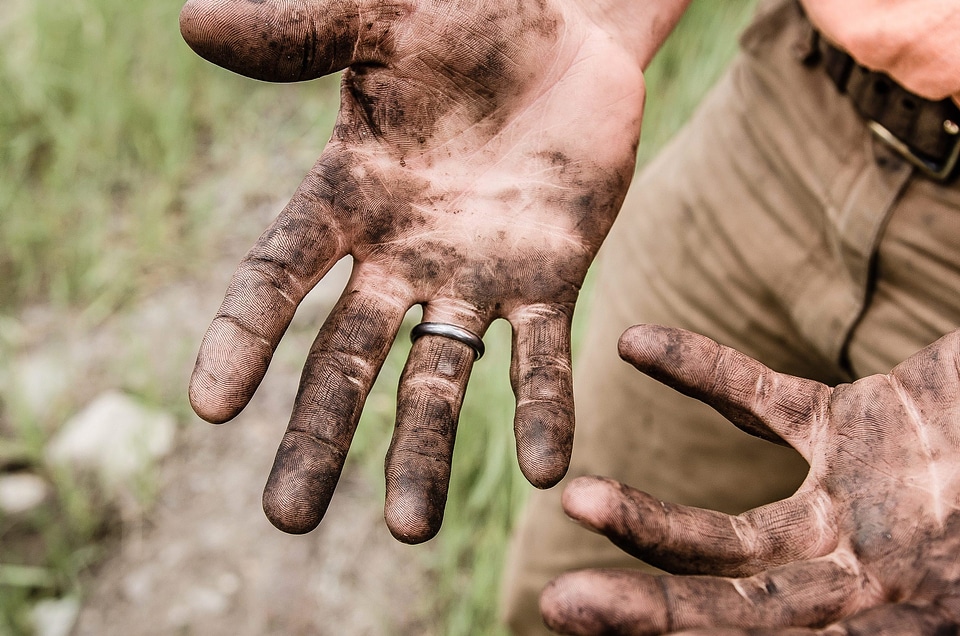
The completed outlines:
<svg viewBox="0 0 960 636">
<path fill-rule="evenodd" d="M 960 0 L 801 0 L 833 44 L 929 99 L 960 104 Z"/>
</svg>

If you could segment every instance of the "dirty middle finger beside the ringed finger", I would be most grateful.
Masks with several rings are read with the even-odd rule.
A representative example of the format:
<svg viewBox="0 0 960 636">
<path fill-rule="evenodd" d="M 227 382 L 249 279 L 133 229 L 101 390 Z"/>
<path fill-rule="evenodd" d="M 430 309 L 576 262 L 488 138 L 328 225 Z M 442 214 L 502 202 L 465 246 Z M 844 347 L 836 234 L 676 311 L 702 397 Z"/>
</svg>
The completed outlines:
<svg viewBox="0 0 960 636">
<path fill-rule="evenodd" d="M 263 493 L 264 512 L 285 532 L 313 530 L 330 503 L 363 403 L 409 306 L 390 291 L 351 281 L 310 349 Z"/>
</svg>

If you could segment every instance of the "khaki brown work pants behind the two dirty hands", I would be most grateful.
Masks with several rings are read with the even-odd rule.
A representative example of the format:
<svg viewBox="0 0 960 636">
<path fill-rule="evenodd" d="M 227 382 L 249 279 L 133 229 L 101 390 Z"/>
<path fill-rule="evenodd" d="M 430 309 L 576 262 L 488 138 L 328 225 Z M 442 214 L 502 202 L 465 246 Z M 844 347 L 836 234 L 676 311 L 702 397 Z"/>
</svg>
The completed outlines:
<svg viewBox="0 0 960 636">
<path fill-rule="evenodd" d="M 534 492 L 502 611 L 547 633 L 560 572 L 637 567 L 563 514 L 584 474 L 726 512 L 790 495 L 806 464 L 617 357 L 630 325 L 684 327 L 830 384 L 883 373 L 960 326 L 960 186 L 875 140 L 822 69 L 802 65 L 793 2 L 764 4 L 686 128 L 639 175 L 601 251 L 576 361 L 577 431 L 560 486 Z M 655 99 L 655 96 L 651 96 Z"/>
</svg>

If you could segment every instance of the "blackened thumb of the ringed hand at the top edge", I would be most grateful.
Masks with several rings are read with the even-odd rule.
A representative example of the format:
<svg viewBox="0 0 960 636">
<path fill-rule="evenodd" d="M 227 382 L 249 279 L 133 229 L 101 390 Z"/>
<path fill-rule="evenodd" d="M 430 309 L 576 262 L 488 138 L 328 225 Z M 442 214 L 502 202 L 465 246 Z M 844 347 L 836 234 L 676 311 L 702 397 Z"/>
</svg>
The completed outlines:
<svg viewBox="0 0 960 636">
<path fill-rule="evenodd" d="M 188 0 L 183 39 L 201 57 L 272 82 L 315 79 L 350 64 L 379 61 L 394 3 L 343 0 Z"/>
</svg>

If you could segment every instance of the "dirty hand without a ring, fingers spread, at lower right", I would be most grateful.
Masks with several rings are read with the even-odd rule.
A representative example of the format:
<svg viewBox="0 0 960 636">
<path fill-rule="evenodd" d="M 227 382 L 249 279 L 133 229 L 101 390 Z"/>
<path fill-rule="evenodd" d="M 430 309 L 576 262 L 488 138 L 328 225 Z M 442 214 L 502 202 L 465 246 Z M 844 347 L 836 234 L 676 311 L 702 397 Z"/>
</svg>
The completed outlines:
<svg viewBox="0 0 960 636">
<path fill-rule="evenodd" d="M 745 431 L 785 440 L 810 473 L 789 499 L 739 516 L 602 478 L 574 481 L 567 514 L 644 561 L 699 576 L 565 574 L 541 597 L 548 625 L 568 634 L 956 633 L 960 331 L 889 375 L 836 388 L 679 329 L 634 327 L 620 349 Z"/>
</svg>

